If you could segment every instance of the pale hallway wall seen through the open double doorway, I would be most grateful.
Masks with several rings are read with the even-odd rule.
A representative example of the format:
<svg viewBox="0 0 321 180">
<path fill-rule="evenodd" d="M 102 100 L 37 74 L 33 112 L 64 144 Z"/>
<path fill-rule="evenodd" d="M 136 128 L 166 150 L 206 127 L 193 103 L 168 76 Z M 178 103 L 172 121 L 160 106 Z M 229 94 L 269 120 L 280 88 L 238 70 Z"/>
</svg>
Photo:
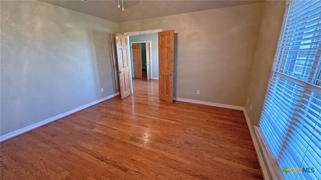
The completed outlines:
<svg viewBox="0 0 321 180">
<path fill-rule="evenodd" d="M 128 32 L 128 31 L 127 31 Z M 151 40 L 152 77 L 158 77 L 158 34 L 132 35 L 129 41 Z"/>
</svg>

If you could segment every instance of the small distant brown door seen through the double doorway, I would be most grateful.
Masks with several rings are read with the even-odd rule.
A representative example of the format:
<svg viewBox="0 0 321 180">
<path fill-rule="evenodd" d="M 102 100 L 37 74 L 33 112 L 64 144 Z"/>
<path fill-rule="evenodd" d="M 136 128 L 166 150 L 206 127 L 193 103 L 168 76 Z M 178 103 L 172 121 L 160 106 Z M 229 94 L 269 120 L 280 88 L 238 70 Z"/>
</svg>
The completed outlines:
<svg viewBox="0 0 321 180">
<path fill-rule="evenodd" d="M 141 44 L 132 44 L 132 58 L 134 66 L 134 77 L 142 78 L 142 68 L 141 68 Z"/>
</svg>

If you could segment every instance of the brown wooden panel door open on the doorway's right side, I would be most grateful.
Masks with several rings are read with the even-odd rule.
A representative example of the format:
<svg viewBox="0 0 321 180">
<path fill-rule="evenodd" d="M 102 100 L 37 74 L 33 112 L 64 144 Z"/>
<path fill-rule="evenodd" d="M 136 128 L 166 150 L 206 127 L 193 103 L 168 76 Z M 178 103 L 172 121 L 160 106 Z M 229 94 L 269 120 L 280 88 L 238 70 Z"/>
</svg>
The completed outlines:
<svg viewBox="0 0 321 180">
<path fill-rule="evenodd" d="M 174 30 L 158 32 L 159 99 L 173 103 Z"/>
</svg>

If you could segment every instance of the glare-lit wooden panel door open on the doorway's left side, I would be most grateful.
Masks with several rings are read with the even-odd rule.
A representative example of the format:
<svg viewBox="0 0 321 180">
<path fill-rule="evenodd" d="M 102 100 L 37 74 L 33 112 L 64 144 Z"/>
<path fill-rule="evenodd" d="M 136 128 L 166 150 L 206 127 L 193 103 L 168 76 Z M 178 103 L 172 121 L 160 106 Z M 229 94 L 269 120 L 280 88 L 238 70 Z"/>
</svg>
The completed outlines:
<svg viewBox="0 0 321 180">
<path fill-rule="evenodd" d="M 115 33 L 120 98 L 131 94 L 127 36 Z"/>
</svg>

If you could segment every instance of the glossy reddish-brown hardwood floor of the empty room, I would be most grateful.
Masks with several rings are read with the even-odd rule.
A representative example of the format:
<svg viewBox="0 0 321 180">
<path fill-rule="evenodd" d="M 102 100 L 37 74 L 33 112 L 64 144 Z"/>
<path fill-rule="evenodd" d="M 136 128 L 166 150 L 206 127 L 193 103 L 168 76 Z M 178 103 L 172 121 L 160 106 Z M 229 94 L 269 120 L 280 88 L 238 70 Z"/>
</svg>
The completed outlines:
<svg viewBox="0 0 321 180">
<path fill-rule="evenodd" d="M 262 179 L 242 111 L 158 100 L 158 81 L 1 143 L 1 179 Z"/>
</svg>

